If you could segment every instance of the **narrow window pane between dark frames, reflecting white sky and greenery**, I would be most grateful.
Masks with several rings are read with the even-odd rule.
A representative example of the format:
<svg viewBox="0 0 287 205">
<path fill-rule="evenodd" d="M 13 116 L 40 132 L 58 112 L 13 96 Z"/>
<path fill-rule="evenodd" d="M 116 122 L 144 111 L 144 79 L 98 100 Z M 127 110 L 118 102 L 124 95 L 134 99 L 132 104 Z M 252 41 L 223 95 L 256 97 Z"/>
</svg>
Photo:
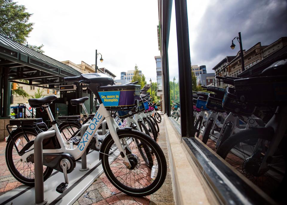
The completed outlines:
<svg viewBox="0 0 287 205">
<path fill-rule="evenodd" d="M 175 7 L 172 2 L 170 37 L 168 43 L 168 67 L 170 78 L 170 110 L 172 119 L 180 125 L 180 100 L 178 84 L 178 53 L 177 53 L 177 35 L 175 22 Z"/>
</svg>

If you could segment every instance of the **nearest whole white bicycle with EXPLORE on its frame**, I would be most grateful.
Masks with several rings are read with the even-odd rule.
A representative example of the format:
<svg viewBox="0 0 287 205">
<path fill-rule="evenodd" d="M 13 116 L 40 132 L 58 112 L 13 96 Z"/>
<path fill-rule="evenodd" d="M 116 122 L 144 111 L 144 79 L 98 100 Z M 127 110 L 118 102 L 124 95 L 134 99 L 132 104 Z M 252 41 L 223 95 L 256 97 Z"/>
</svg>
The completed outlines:
<svg viewBox="0 0 287 205">
<path fill-rule="evenodd" d="M 29 104 L 33 108 L 45 109 L 48 113 L 52 127 L 45 131 L 45 134 L 51 135 L 51 143 L 43 146 L 43 166 L 46 166 L 49 172 L 44 171 L 45 177 L 48 178 L 51 171 L 56 169 L 64 173 L 65 182 L 57 186 L 57 192 L 64 192 L 68 186 L 67 174 L 72 172 L 75 168 L 75 159 L 81 157 L 86 151 L 91 142 L 94 133 L 103 121 L 109 127 L 110 134 L 105 138 L 100 149 L 100 159 L 107 178 L 120 191 L 134 196 L 146 196 L 154 193 L 164 183 L 167 174 L 167 163 L 160 146 L 148 135 L 139 131 L 132 130 L 132 128 L 119 128 L 115 120 L 111 116 L 111 110 L 133 110 L 138 107 L 139 100 L 139 85 L 121 85 L 121 86 L 107 86 L 114 85 L 114 80 L 105 74 L 81 74 L 77 77 L 66 77 L 65 82 L 80 82 L 88 85 L 88 88 L 97 96 L 100 107 L 95 114 L 92 122 L 88 126 L 85 134 L 82 136 L 79 145 L 74 149 L 67 149 L 56 121 L 51 113 L 49 104 L 51 104 L 57 96 L 51 95 L 40 99 L 29 99 Z M 122 96 L 122 98 L 120 98 Z M 144 143 L 147 151 L 151 150 L 153 159 L 152 168 L 146 165 L 139 154 L 138 147 L 132 139 L 137 139 Z M 7 149 L 13 149 L 17 139 L 10 139 L 7 142 Z M 58 148 L 58 149 L 57 149 Z M 23 150 L 24 149 L 24 150 Z M 18 160 L 17 163 L 33 163 L 33 140 L 27 140 L 24 146 L 14 158 Z M 12 153 L 12 152 L 8 152 Z M 20 182 L 29 186 L 34 185 L 34 178 L 25 176 L 17 176 L 17 169 L 13 163 L 12 154 L 8 156 L 7 165 L 12 175 Z M 53 159 L 53 160 L 51 160 Z M 130 173 L 140 172 L 137 174 L 138 178 L 131 178 Z M 30 169 L 31 170 L 31 169 Z M 130 180 L 124 180 L 124 179 Z M 133 180 L 133 183 L 131 182 Z M 142 184 L 141 182 L 145 182 Z"/>
</svg>

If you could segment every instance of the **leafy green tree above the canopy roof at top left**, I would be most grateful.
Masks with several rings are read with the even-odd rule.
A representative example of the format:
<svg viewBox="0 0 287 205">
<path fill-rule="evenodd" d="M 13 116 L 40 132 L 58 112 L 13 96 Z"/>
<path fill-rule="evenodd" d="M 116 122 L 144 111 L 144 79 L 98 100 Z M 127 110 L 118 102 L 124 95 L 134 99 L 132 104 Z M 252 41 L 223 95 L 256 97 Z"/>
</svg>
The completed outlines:
<svg viewBox="0 0 287 205">
<path fill-rule="evenodd" d="M 13 0 L 0 0 L 0 28 L 1 33 L 10 39 L 26 44 L 29 33 L 33 30 L 33 23 L 29 22 L 32 13 L 26 11 L 24 5 L 18 5 Z M 22 41 L 21 41 L 22 40 Z M 28 47 L 43 53 L 43 45 L 28 45 Z"/>
</svg>

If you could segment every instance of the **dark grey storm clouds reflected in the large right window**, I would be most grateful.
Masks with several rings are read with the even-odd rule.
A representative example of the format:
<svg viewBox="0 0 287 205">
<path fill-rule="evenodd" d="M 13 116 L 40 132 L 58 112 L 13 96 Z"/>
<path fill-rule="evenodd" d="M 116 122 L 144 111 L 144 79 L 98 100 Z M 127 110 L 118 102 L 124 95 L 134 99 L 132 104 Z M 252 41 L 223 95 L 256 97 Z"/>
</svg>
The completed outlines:
<svg viewBox="0 0 287 205">
<path fill-rule="evenodd" d="M 269 45 L 287 36 L 287 1 L 213 1 L 199 23 L 191 61 L 206 64 L 211 71 L 225 56 L 239 51 L 237 41 L 235 49 L 230 49 L 238 32 L 246 50 L 257 42 Z"/>
</svg>

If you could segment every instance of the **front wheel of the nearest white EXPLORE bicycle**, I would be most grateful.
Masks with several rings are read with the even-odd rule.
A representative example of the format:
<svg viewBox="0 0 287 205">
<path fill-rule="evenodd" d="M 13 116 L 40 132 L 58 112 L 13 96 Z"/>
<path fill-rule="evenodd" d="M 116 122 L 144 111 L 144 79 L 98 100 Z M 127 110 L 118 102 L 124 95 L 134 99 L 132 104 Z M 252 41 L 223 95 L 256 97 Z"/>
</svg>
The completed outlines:
<svg viewBox="0 0 287 205">
<path fill-rule="evenodd" d="M 127 154 L 132 165 L 128 169 L 122 161 L 120 152 L 109 135 L 103 142 L 102 165 L 109 181 L 120 191 L 132 196 L 147 196 L 157 191 L 166 178 L 167 162 L 160 146 L 148 135 L 135 130 L 120 130 L 119 139 L 126 139 L 131 153 Z M 153 151 L 152 169 L 146 166 L 138 146 L 131 139 L 138 139 Z"/>
</svg>

